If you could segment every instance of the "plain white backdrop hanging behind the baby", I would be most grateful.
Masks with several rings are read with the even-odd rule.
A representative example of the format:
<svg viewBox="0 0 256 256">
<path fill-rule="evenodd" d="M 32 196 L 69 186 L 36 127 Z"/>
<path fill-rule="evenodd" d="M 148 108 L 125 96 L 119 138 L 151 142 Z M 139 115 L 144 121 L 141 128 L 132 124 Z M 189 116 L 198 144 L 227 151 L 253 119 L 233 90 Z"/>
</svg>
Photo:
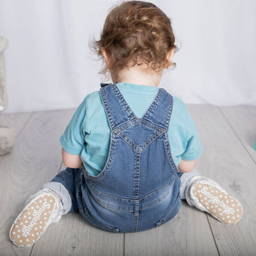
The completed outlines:
<svg viewBox="0 0 256 256">
<path fill-rule="evenodd" d="M 0 0 L 8 38 L 6 113 L 76 108 L 99 90 L 100 61 L 88 48 L 120 1 Z M 177 68 L 159 87 L 184 102 L 256 105 L 256 1 L 152 1 L 171 18 Z M 105 81 L 107 82 L 107 81 Z"/>
</svg>

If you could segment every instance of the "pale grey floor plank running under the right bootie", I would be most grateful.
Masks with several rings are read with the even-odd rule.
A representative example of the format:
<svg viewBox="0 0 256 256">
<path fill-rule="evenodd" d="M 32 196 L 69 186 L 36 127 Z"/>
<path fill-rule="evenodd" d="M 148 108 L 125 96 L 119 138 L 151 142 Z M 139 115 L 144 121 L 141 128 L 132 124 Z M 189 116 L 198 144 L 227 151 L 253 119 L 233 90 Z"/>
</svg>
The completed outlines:
<svg viewBox="0 0 256 256">
<path fill-rule="evenodd" d="M 256 255 L 255 163 L 218 108 L 189 106 L 189 111 L 204 148 L 198 159 L 201 175 L 216 180 L 244 209 L 243 218 L 236 225 L 225 225 L 208 216 L 220 255 Z M 244 122 L 253 125 L 246 118 Z M 249 129 L 252 131 L 253 127 Z"/>
</svg>

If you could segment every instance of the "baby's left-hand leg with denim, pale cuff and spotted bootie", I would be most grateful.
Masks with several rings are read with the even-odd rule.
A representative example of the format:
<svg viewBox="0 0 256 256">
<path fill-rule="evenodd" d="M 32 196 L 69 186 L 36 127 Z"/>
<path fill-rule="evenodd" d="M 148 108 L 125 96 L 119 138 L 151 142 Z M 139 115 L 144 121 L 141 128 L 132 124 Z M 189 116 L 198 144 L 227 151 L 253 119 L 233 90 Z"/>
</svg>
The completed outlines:
<svg viewBox="0 0 256 256">
<path fill-rule="evenodd" d="M 10 239 L 17 246 L 31 246 L 52 222 L 63 214 L 77 211 L 75 179 L 79 168 L 67 168 L 31 196 L 10 230 Z"/>
</svg>

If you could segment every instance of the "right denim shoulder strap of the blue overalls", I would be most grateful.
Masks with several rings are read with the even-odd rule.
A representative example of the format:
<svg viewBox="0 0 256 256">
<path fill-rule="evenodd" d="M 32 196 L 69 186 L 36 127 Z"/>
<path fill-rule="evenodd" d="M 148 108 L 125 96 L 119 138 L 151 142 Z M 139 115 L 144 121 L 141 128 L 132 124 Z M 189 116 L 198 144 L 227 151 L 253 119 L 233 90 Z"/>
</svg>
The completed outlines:
<svg viewBox="0 0 256 256">
<path fill-rule="evenodd" d="M 168 131 L 172 115 L 173 97 L 164 88 L 159 88 L 156 98 L 148 108 L 143 119 L 159 125 Z"/>
</svg>

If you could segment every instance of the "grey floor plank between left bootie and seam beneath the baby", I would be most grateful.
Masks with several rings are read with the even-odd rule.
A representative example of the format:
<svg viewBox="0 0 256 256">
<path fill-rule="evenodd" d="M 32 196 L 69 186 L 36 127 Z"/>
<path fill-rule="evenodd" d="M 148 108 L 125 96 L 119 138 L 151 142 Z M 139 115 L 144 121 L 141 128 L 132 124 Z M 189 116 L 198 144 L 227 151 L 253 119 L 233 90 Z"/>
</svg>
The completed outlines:
<svg viewBox="0 0 256 256">
<path fill-rule="evenodd" d="M 65 170 L 65 165 L 61 165 Z M 54 242 L 52 241 L 54 237 Z M 47 246 L 45 246 L 47 244 Z M 36 242 L 33 255 L 116 255 L 124 252 L 124 234 L 112 234 L 95 228 L 79 212 L 62 216 L 58 223 L 52 223 Z"/>
</svg>

